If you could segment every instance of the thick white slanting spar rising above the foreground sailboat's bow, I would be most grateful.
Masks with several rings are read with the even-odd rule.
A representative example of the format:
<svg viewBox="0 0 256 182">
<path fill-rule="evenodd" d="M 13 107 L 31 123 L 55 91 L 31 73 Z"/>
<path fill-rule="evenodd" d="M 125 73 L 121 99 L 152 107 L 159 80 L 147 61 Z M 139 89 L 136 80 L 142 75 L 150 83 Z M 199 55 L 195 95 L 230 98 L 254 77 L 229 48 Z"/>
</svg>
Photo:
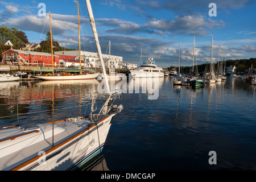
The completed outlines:
<svg viewBox="0 0 256 182">
<path fill-rule="evenodd" d="M 86 2 L 89 18 L 90 18 L 90 26 L 92 26 L 92 32 L 93 32 L 93 35 L 94 35 L 94 40 L 96 42 L 98 55 L 99 55 L 100 61 L 101 61 L 101 68 L 102 68 L 102 72 L 103 72 L 103 75 L 104 75 L 104 82 L 105 82 L 105 86 L 106 86 L 106 91 L 110 95 L 111 93 L 110 93 L 110 89 L 109 89 L 109 81 L 108 81 L 108 77 L 106 75 L 106 69 L 105 69 L 105 65 L 104 65 L 104 61 L 103 61 L 103 57 L 102 57 L 102 53 L 101 53 L 100 42 L 98 41 L 98 34 L 97 34 L 97 30 L 96 30 L 95 20 L 94 20 L 94 17 L 93 17 L 92 6 L 90 5 L 89 0 L 85 0 L 85 2 Z"/>
</svg>

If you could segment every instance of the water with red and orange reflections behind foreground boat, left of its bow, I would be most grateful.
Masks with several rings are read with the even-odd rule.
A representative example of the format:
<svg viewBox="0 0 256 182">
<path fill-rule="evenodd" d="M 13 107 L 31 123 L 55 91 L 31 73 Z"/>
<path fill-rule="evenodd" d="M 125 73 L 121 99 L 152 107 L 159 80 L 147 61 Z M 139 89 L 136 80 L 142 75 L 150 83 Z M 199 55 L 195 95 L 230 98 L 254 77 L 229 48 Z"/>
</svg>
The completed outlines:
<svg viewBox="0 0 256 182">
<path fill-rule="evenodd" d="M 0 125 L 49 122 L 82 115 L 82 107 L 89 103 L 90 92 L 97 92 L 98 83 L 97 80 L 1 83 Z M 101 98 L 101 94 L 96 97 Z"/>
</svg>

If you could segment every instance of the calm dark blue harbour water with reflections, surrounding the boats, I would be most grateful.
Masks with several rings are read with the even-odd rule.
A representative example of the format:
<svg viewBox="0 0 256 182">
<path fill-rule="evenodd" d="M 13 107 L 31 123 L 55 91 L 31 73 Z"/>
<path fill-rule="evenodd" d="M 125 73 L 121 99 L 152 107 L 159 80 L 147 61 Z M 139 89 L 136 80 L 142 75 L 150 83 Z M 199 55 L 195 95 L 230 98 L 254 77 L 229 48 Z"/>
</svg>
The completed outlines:
<svg viewBox="0 0 256 182">
<path fill-rule="evenodd" d="M 90 110 L 90 91 L 97 92 L 98 84 L 0 83 L 0 126 L 16 124 L 17 102 L 19 122 L 84 115 Z M 117 101 L 124 109 L 113 119 L 105 142 L 108 169 L 256 170 L 256 85 L 230 77 L 201 89 L 174 86 L 170 77 L 159 78 L 158 84 L 156 100 L 148 100 L 147 93 L 129 92 Z M 104 95 L 96 96 L 99 108 Z M 210 151 L 217 154 L 216 165 L 208 162 Z"/>
</svg>

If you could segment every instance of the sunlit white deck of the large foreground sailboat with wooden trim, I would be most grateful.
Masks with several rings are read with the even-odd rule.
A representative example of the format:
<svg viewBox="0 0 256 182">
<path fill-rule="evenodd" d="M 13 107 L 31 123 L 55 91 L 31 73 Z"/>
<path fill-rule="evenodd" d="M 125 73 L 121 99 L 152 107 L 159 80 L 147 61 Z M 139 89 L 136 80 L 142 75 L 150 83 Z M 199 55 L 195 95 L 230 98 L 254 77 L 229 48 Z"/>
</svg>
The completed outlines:
<svg viewBox="0 0 256 182">
<path fill-rule="evenodd" d="M 10 170 L 32 159 L 34 163 L 38 163 L 42 152 L 48 154 L 53 150 L 61 150 L 64 144 L 75 138 L 77 134 L 88 131 L 92 123 L 84 118 L 55 122 L 54 147 L 52 147 L 52 123 L 38 126 L 37 129 L 29 131 L 24 131 L 19 126 L 0 130 L 1 170 Z"/>
</svg>

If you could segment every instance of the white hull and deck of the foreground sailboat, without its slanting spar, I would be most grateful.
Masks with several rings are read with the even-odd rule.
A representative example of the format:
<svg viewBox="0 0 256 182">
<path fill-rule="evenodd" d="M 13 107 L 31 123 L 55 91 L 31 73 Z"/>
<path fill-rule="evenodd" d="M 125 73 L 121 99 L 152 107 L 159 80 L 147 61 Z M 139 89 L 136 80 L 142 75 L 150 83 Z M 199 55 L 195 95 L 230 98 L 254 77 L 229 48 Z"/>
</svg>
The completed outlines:
<svg viewBox="0 0 256 182">
<path fill-rule="evenodd" d="M 20 137 L 0 140 L 0 169 L 51 171 L 79 167 L 102 150 L 114 115 L 101 119 L 97 126 L 84 118 L 56 123 L 53 147 L 51 123 L 23 131 Z M 1 138 L 19 130 L 2 129 Z"/>
</svg>

